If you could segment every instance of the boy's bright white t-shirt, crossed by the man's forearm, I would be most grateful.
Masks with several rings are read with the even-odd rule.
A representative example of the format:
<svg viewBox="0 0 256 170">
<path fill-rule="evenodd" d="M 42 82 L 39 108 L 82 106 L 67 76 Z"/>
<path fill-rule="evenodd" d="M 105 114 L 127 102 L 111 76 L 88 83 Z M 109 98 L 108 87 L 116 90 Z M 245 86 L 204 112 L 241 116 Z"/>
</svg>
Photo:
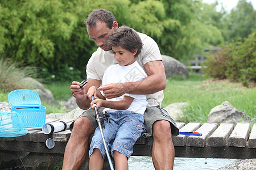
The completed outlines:
<svg viewBox="0 0 256 170">
<path fill-rule="evenodd" d="M 103 79 L 102 85 L 110 84 L 110 83 L 126 83 L 126 82 L 138 82 L 147 77 L 147 74 L 144 72 L 141 66 L 139 66 L 138 62 L 135 61 L 129 66 L 119 66 L 112 65 L 106 69 Z M 102 92 L 102 95 L 103 92 Z M 144 114 L 147 107 L 146 95 L 133 95 L 133 94 L 124 94 L 120 97 L 115 97 L 113 99 L 107 99 L 107 101 L 119 101 L 123 99 L 123 96 L 133 97 L 134 100 L 125 111 L 132 111 L 135 113 Z M 103 112 L 115 112 L 120 111 L 116 109 L 105 108 Z"/>
</svg>

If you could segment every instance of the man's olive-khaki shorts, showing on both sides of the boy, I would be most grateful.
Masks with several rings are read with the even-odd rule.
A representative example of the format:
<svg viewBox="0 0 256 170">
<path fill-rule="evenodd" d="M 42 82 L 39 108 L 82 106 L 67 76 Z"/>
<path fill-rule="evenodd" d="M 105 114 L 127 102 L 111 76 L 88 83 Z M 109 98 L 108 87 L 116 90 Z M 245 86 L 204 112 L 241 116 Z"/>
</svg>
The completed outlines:
<svg viewBox="0 0 256 170">
<path fill-rule="evenodd" d="M 101 107 L 98 109 L 98 112 L 102 114 L 104 107 Z M 93 116 L 95 114 L 94 109 L 88 109 L 84 113 L 82 113 L 78 118 L 80 117 L 88 117 L 89 120 L 92 122 L 93 129 L 95 130 L 97 128 L 97 122 L 95 120 L 95 117 Z M 145 113 L 144 113 L 145 121 L 144 125 L 147 128 L 146 133 L 143 133 L 143 137 L 149 138 L 152 136 L 152 126 L 155 121 L 158 120 L 166 120 L 170 122 L 171 125 L 171 131 L 172 135 L 179 135 L 179 129 L 177 128 L 177 125 L 175 121 L 171 118 L 170 114 L 167 113 L 167 111 L 163 108 L 160 108 L 159 106 L 157 107 L 147 107 Z M 73 123 L 69 127 L 70 130 L 73 129 Z"/>
</svg>

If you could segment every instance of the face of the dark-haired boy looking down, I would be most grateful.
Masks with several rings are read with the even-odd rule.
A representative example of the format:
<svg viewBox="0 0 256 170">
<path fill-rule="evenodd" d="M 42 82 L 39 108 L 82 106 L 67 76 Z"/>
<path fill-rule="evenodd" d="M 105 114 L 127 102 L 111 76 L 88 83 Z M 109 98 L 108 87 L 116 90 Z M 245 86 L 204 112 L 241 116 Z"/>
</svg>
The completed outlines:
<svg viewBox="0 0 256 170">
<path fill-rule="evenodd" d="M 120 66 L 128 66 L 135 62 L 134 55 L 137 53 L 137 50 L 132 53 L 121 46 L 112 46 L 112 51 Z"/>
</svg>

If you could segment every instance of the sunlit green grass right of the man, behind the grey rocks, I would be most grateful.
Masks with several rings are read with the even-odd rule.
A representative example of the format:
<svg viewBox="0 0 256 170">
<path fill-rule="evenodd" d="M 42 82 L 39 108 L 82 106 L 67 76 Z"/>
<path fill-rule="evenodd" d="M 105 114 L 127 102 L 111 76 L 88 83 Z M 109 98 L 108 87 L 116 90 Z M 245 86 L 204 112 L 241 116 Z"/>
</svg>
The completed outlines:
<svg viewBox="0 0 256 170">
<path fill-rule="evenodd" d="M 192 73 L 188 80 L 172 78 L 167 80 L 162 107 L 172 103 L 187 102 L 183 122 L 207 122 L 210 109 L 228 101 L 235 108 L 256 119 L 256 88 L 245 88 L 239 83 L 226 80 L 213 81 Z"/>
</svg>

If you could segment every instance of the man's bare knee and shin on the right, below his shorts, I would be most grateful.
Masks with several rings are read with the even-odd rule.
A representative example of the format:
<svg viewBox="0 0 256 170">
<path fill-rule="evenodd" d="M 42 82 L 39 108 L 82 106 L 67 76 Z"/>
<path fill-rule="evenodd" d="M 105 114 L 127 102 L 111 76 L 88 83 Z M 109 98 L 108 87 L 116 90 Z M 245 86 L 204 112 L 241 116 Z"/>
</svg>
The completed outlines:
<svg viewBox="0 0 256 170">
<path fill-rule="evenodd" d="M 173 169 L 175 150 L 170 122 L 166 120 L 154 122 L 152 135 L 154 137 L 152 160 L 155 169 Z"/>
</svg>

